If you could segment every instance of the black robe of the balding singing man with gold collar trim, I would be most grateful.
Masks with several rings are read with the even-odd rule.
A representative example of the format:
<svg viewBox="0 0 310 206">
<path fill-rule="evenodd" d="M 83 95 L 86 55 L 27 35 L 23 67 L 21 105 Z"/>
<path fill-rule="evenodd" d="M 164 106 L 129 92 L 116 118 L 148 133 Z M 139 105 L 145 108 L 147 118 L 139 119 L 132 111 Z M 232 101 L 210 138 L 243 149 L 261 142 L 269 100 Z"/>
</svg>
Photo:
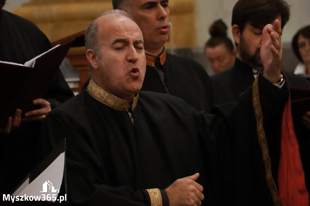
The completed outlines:
<svg viewBox="0 0 310 206">
<path fill-rule="evenodd" d="M 260 82 L 262 102 L 287 99 L 288 92 L 264 78 Z M 46 155 L 66 138 L 69 203 L 150 205 L 146 189 L 159 188 L 163 205 L 168 205 L 164 189 L 196 172 L 204 187 L 202 205 L 232 203 L 227 187 L 232 187 L 232 173 L 242 169 L 234 166 L 236 139 L 257 139 L 252 91 L 243 97 L 237 105 L 216 107 L 214 114 L 206 114 L 177 97 L 140 91 L 132 111 L 133 126 L 126 111 L 105 105 L 83 90 L 47 115 L 42 153 Z M 267 118 L 283 108 L 281 104 L 271 106 Z M 266 122 L 270 127 L 277 123 Z M 240 128 L 244 124 L 249 127 Z M 251 185 L 249 192 L 255 188 Z M 238 198 L 243 199 L 240 194 Z"/>
</svg>

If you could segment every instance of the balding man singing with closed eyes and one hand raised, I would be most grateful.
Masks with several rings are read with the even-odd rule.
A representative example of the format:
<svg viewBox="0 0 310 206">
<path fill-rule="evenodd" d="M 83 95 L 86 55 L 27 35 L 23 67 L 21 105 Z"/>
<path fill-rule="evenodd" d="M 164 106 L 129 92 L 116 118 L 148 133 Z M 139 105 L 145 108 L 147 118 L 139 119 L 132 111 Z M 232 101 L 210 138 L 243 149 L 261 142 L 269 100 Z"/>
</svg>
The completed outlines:
<svg viewBox="0 0 310 206">
<path fill-rule="evenodd" d="M 279 29 L 264 29 L 265 70 L 254 93 L 272 108 L 264 114 L 270 127 L 276 124 L 268 119 L 281 113 L 288 96 L 273 85 L 280 81 Z M 196 112 L 172 95 L 139 92 L 146 71 L 144 38 L 125 11 L 107 11 L 92 22 L 85 45 L 92 79 L 47 115 L 41 134 L 43 156 L 66 138 L 69 203 L 215 205 L 226 190 L 223 170 L 231 154 L 225 145 L 257 135 L 252 90 L 215 114 Z M 244 122 L 253 127 L 240 130 Z"/>
</svg>

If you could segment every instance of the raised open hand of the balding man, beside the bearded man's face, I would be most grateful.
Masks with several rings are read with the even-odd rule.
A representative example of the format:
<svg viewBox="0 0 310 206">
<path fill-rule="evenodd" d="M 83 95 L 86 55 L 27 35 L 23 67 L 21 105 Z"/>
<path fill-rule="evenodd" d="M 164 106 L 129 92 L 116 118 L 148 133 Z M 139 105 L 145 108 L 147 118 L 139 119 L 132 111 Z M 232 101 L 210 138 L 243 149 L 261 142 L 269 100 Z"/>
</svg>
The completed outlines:
<svg viewBox="0 0 310 206">
<path fill-rule="evenodd" d="M 260 57 L 264 67 L 263 76 L 272 84 L 280 81 L 283 45 L 281 43 L 281 25 L 278 19 L 263 28 Z"/>
</svg>

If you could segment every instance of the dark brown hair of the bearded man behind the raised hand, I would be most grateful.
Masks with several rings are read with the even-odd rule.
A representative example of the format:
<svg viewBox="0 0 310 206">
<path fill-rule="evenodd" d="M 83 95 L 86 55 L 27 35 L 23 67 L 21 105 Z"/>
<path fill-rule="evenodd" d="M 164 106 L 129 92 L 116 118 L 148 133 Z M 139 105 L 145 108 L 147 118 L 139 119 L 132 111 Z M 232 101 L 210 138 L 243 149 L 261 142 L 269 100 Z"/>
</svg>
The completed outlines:
<svg viewBox="0 0 310 206">
<path fill-rule="evenodd" d="M 270 24 L 281 15 L 281 28 L 290 19 L 290 6 L 284 0 L 239 0 L 232 9 L 232 25 L 237 24 L 240 32 L 246 23 L 257 28 Z"/>
</svg>

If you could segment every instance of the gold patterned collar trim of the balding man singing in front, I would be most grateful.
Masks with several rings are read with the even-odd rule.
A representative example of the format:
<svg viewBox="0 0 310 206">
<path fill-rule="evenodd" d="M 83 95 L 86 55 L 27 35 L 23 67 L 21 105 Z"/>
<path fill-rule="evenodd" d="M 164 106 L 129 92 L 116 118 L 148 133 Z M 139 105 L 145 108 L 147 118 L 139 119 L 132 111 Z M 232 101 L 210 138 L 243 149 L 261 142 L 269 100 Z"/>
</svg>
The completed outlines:
<svg viewBox="0 0 310 206">
<path fill-rule="evenodd" d="M 93 79 L 90 80 L 87 86 L 87 92 L 94 97 L 96 100 L 101 103 L 112 107 L 114 109 L 118 109 L 121 111 L 128 112 L 128 102 L 122 98 L 119 98 L 101 88 L 98 84 L 96 84 Z M 133 98 L 131 110 L 134 110 L 138 104 L 139 93 Z"/>
</svg>

